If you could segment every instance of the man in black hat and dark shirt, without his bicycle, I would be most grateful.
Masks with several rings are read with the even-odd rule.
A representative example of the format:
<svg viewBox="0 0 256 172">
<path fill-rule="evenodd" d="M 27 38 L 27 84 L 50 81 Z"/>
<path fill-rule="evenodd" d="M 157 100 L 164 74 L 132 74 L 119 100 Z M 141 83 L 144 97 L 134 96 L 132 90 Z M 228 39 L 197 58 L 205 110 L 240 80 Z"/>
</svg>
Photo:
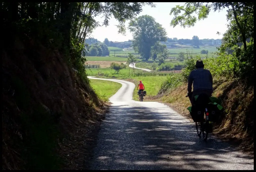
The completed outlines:
<svg viewBox="0 0 256 172">
<path fill-rule="evenodd" d="M 210 97 L 213 92 L 211 72 L 207 69 L 204 69 L 205 65 L 202 60 L 197 60 L 195 66 L 196 69 L 191 71 L 188 77 L 188 97 L 192 105 L 195 95 L 206 93 Z"/>
</svg>

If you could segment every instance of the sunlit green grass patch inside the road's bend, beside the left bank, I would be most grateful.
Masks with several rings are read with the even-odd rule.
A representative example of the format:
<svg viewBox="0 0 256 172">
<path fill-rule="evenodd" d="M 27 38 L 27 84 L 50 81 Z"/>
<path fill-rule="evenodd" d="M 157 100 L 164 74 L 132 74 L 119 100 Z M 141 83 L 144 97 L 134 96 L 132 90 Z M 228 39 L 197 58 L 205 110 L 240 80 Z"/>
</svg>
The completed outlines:
<svg viewBox="0 0 256 172">
<path fill-rule="evenodd" d="M 108 101 L 121 87 L 122 84 L 112 81 L 90 79 L 90 85 L 103 101 Z"/>
</svg>

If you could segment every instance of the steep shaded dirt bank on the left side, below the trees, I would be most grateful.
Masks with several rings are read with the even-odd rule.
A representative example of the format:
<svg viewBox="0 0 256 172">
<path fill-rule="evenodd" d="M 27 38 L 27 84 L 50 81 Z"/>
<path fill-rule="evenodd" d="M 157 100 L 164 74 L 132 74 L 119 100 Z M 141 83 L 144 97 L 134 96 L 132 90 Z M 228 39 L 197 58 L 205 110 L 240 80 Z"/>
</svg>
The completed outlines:
<svg viewBox="0 0 256 172">
<path fill-rule="evenodd" d="M 108 105 L 39 41 L 2 51 L 2 169 L 82 169 Z"/>
</svg>

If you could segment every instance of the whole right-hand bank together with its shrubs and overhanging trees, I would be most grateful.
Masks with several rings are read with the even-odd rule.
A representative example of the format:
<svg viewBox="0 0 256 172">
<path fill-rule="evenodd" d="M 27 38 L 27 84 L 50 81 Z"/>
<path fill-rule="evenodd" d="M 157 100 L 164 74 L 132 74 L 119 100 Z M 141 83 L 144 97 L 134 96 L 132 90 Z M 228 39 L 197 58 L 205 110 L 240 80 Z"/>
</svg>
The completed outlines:
<svg viewBox="0 0 256 172">
<path fill-rule="evenodd" d="M 224 4 L 224 5 L 223 5 Z M 207 10 L 228 9 L 230 15 L 228 30 L 224 34 L 223 44 L 220 46 L 219 57 L 204 59 L 205 68 L 210 70 L 214 77 L 214 93 L 222 99 L 225 108 L 221 120 L 215 124 L 214 133 L 239 144 L 242 149 L 253 151 L 254 148 L 254 26 L 253 26 L 253 3 L 212 3 L 208 4 Z M 171 24 L 176 26 L 190 26 L 190 11 L 198 12 L 201 17 L 207 17 L 205 6 L 200 3 L 187 3 L 187 6 L 175 7 L 175 14 Z M 195 7 L 195 8 L 191 8 Z M 184 10 L 186 17 L 180 17 L 179 12 Z M 189 11 L 189 14 L 187 12 Z M 247 11 L 247 13 L 244 13 Z M 177 13 L 176 13 L 177 12 Z M 238 15 L 239 14 L 239 15 Z M 183 16 L 182 15 L 182 16 Z M 196 20 L 195 20 L 196 21 Z M 194 22 L 195 22 L 194 21 Z M 243 25 L 242 25 L 243 24 Z M 237 29 L 239 27 L 239 29 Z M 242 28 L 241 28 L 242 27 Z M 232 35 L 237 35 L 234 37 Z M 246 41 L 247 38 L 249 42 Z M 241 42 L 243 43 L 241 43 Z M 232 51 L 229 51 L 232 50 Z M 195 69 L 195 62 L 200 57 L 187 56 L 186 68 L 180 74 L 171 75 L 162 84 L 158 96 L 159 101 L 170 103 L 181 113 L 189 114 L 186 110 L 190 106 L 187 93 L 187 79 L 189 73 Z M 189 115 L 188 115 L 189 116 Z"/>
</svg>

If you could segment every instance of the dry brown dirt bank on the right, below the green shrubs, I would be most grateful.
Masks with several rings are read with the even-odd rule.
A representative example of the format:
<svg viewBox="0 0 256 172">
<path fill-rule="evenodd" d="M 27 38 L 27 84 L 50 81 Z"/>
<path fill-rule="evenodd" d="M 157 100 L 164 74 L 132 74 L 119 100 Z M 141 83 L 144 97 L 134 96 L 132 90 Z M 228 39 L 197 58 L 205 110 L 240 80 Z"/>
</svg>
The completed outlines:
<svg viewBox="0 0 256 172">
<path fill-rule="evenodd" d="M 187 110 L 190 102 L 185 97 L 186 95 L 187 83 L 184 83 L 179 88 L 153 97 L 152 100 L 166 103 L 191 119 Z M 253 154 L 254 87 L 246 87 L 238 79 L 215 79 L 213 96 L 220 97 L 222 105 L 226 109 L 220 121 L 215 124 L 213 134 L 234 146 L 239 146 L 239 149 Z"/>
</svg>

